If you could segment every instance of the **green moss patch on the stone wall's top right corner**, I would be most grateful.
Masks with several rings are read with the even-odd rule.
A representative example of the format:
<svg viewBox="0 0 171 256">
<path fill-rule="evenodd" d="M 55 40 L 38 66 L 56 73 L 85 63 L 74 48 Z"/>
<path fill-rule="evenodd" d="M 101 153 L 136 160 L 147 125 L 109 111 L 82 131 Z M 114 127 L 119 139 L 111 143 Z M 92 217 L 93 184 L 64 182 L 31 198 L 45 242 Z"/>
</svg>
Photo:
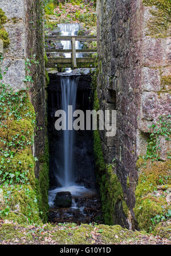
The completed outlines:
<svg viewBox="0 0 171 256">
<path fill-rule="evenodd" d="M 144 0 L 144 5 L 157 6 L 158 10 L 150 10 L 153 15 L 149 19 L 147 36 L 152 37 L 168 37 L 170 25 L 170 1 L 169 0 Z"/>
</svg>

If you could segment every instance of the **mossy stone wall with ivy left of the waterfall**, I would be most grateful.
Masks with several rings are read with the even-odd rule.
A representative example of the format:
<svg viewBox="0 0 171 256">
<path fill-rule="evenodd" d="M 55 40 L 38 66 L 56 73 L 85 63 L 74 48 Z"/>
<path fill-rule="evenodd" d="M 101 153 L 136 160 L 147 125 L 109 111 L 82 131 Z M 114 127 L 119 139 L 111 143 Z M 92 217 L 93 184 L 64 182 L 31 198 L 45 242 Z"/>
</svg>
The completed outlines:
<svg viewBox="0 0 171 256">
<path fill-rule="evenodd" d="M 17 0 L 11 6 L 10 1 L 3 0 L 0 3 L 0 9 L 2 9 L 0 17 L 3 11 L 6 15 L 6 18 L 3 16 L 1 21 L 3 20 L 3 27 L 10 39 L 10 44 L 5 45 L 4 60 L 1 65 L 2 72 L 7 67 L 2 82 L 12 87 L 14 95 L 15 93 L 27 94 L 27 104 L 23 103 L 20 113 L 21 120 L 14 118 L 7 123 L 6 129 L 3 127 L 3 133 L 1 133 L 2 140 L 7 141 L 8 144 L 14 140 L 15 136 L 18 136 L 18 141 L 22 141 L 23 144 L 23 148 L 19 151 L 14 150 L 14 158 L 11 161 L 8 157 L 2 160 L 3 155 L 1 156 L 3 174 L 5 171 L 9 172 L 14 183 L 8 189 L 3 188 L 1 191 L 4 206 L 10 207 L 6 218 L 14 218 L 18 222 L 40 222 L 42 220 L 46 222 L 48 141 L 46 139 L 43 1 Z M 29 68 L 30 73 L 28 73 L 26 60 L 28 62 L 33 59 L 38 64 L 32 62 Z M 24 81 L 28 74 L 33 82 Z M 23 138 L 25 138 L 26 145 Z M 3 141 L 0 147 L 3 146 Z M 18 182 L 18 178 L 14 177 L 18 174 L 24 177 L 23 185 Z M 18 195 L 17 191 L 19 191 Z"/>
</svg>

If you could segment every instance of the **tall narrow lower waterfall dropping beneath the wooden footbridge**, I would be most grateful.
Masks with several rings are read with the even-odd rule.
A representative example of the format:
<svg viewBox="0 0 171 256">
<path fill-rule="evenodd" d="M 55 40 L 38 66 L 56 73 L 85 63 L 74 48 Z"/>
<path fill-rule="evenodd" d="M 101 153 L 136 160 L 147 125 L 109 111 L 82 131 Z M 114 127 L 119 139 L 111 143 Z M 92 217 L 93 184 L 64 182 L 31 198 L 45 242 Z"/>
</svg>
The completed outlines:
<svg viewBox="0 0 171 256">
<path fill-rule="evenodd" d="M 79 76 L 61 77 L 62 109 L 66 112 L 66 121 L 68 120 L 68 105 L 72 106 L 72 113 L 75 111 L 78 82 Z M 66 122 L 66 127 L 68 128 L 68 121 Z M 67 129 L 63 131 L 64 166 L 62 185 L 66 187 L 70 186 L 74 180 L 72 174 L 74 133 L 74 130 L 70 131 Z"/>
</svg>

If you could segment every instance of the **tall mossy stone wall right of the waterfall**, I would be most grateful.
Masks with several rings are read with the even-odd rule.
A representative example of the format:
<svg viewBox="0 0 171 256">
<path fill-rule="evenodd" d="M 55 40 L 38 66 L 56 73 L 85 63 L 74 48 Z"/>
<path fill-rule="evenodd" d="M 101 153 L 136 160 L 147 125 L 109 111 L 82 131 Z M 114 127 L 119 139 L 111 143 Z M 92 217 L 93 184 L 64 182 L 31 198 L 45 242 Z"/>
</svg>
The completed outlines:
<svg viewBox="0 0 171 256">
<path fill-rule="evenodd" d="M 132 227 L 137 228 L 139 223 L 146 230 L 152 224 L 150 218 L 157 211 L 161 214 L 161 206 L 165 208 L 166 203 L 165 199 L 162 203 L 156 199 L 157 203 L 152 200 L 153 195 L 148 195 L 156 210 L 152 212 L 150 205 L 145 207 L 149 199 L 141 200 L 143 195 L 138 191 L 143 185 L 147 190 L 155 186 L 150 186 L 148 179 L 143 183 L 136 162 L 146 155 L 149 135 L 153 132 L 149 126 L 169 114 L 169 24 L 169 0 L 97 1 L 97 97 L 100 109 L 107 109 L 112 100 L 117 111 L 116 136 L 108 140 L 105 132 L 100 132 L 99 140 L 105 164 L 112 164 L 115 159 L 115 174 L 121 183 Z M 158 160 L 168 162 L 169 141 L 163 135 L 159 136 Z M 163 168 L 166 171 L 168 167 L 164 164 Z M 152 163 L 148 170 L 153 172 Z M 111 187 L 115 190 L 115 184 Z M 114 200 L 115 195 L 112 197 Z M 119 208 L 113 211 L 117 220 L 119 212 Z"/>
</svg>

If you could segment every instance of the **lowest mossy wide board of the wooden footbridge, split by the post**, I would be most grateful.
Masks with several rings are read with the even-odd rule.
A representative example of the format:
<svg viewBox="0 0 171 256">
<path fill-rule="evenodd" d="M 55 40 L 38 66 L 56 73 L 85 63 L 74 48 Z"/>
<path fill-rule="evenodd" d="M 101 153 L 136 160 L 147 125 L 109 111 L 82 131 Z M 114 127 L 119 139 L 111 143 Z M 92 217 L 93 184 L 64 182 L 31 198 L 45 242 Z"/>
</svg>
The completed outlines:
<svg viewBox="0 0 171 256">
<path fill-rule="evenodd" d="M 76 58 L 77 63 L 93 63 L 95 58 Z M 71 58 L 48 58 L 48 64 L 58 64 L 58 63 L 70 63 L 72 64 Z"/>
</svg>

